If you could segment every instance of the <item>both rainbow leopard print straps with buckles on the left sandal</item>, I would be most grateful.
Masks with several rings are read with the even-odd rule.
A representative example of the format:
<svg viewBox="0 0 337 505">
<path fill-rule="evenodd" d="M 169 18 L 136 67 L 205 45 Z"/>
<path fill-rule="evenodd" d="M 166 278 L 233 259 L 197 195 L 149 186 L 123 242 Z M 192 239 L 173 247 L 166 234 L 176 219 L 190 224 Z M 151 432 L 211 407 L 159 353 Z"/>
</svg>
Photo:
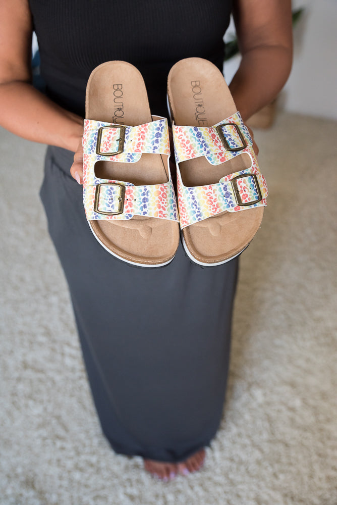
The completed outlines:
<svg viewBox="0 0 337 505">
<path fill-rule="evenodd" d="M 168 182 L 142 186 L 95 176 L 99 160 L 135 163 L 143 153 L 170 156 L 166 118 L 139 126 L 84 120 L 83 203 L 88 221 L 136 215 L 179 222 L 171 174 Z"/>
</svg>

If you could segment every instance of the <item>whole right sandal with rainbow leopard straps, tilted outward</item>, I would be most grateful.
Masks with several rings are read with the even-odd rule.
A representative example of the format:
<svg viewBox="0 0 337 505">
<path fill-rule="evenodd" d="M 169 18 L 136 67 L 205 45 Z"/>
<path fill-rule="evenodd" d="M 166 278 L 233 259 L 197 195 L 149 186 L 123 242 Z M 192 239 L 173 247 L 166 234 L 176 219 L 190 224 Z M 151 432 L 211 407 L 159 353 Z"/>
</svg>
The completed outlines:
<svg viewBox="0 0 337 505">
<path fill-rule="evenodd" d="M 259 229 L 267 185 L 248 129 L 211 62 L 176 63 L 167 98 L 183 246 L 194 263 L 221 265 L 241 254 Z"/>
</svg>

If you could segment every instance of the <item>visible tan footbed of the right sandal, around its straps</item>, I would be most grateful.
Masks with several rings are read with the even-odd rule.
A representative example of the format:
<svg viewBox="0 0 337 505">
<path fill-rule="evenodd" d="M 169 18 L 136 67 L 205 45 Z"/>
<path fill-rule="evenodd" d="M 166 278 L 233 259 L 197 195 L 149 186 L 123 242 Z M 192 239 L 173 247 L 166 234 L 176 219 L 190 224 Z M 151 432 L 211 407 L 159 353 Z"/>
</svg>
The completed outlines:
<svg viewBox="0 0 337 505">
<path fill-rule="evenodd" d="M 198 87 L 195 87 L 195 81 Z M 187 58 L 172 67 L 167 83 L 172 119 L 177 125 L 213 126 L 237 108 L 221 72 L 208 60 Z M 196 110 L 198 104 L 202 106 Z M 202 112 L 202 115 L 197 113 Z M 200 122 L 201 120 L 201 122 Z M 247 154 L 213 166 L 206 158 L 180 163 L 185 186 L 214 184 L 229 174 L 250 168 Z M 222 212 L 182 230 L 190 254 L 200 263 L 224 262 L 242 251 L 260 227 L 263 208 Z"/>
</svg>

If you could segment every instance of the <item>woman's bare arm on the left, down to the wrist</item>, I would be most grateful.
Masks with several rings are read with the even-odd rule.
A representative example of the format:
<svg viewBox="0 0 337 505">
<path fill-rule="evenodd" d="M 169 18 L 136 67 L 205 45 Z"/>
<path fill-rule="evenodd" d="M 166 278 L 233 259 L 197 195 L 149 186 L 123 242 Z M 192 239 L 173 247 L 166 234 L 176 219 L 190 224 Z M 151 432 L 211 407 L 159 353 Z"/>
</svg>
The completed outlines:
<svg viewBox="0 0 337 505">
<path fill-rule="evenodd" d="M 0 124 L 20 137 L 75 151 L 83 120 L 31 84 L 32 19 L 28 0 L 0 3 Z"/>
</svg>

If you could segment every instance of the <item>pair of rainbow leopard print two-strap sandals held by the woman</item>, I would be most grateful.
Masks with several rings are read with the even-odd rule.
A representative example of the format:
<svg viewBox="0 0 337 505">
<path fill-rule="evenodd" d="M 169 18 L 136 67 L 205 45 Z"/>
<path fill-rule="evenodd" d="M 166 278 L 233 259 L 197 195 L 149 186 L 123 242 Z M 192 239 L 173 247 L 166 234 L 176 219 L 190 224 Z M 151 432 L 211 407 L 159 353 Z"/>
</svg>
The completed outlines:
<svg viewBox="0 0 337 505">
<path fill-rule="evenodd" d="M 192 262 L 221 265 L 241 254 L 259 229 L 267 185 L 248 129 L 212 63 L 188 58 L 175 64 L 167 98 L 179 212 L 167 119 L 151 117 L 140 72 L 121 61 L 93 70 L 83 135 L 86 218 L 98 242 L 124 262 L 170 263 L 180 223 Z"/>
</svg>

